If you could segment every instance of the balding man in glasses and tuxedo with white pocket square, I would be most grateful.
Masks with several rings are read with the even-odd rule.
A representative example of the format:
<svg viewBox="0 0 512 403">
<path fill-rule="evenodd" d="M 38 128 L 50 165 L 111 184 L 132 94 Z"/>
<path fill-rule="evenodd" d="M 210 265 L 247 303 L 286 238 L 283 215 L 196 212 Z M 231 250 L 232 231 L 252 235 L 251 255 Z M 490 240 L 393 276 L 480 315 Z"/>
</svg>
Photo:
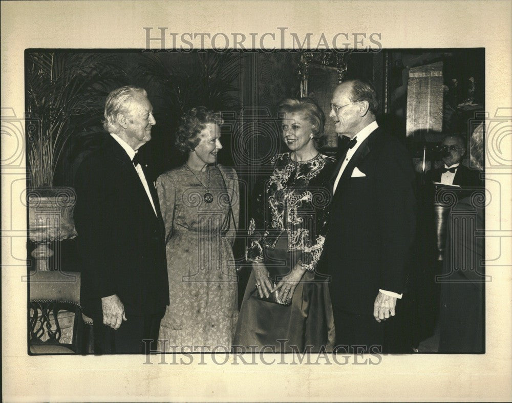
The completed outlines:
<svg viewBox="0 0 512 403">
<path fill-rule="evenodd" d="M 377 124 L 378 97 L 370 82 L 340 84 L 331 102 L 329 116 L 346 141 L 331 178 L 319 270 L 330 275 L 339 349 L 382 351 L 382 322 L 395 315 L 402 297 L 415 234 L 412 161 Z"/>
</svg>

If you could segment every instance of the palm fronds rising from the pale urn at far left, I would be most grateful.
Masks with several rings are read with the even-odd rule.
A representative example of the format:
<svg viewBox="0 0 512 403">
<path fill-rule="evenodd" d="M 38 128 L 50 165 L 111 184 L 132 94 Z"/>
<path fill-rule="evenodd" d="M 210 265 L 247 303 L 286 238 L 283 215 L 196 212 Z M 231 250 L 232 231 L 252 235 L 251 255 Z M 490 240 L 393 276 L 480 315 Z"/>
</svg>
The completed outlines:
<svg viewBox="0 0 512 403">
<path fill-rule="evenodd" d="M 107 53 L 32 52 L 26 64 L 27 110 L 40 125 L 29 150 L 31 184 L 48 186 L 69 138 L 99 122 L 106 94 L 126 73 Z"/>
</svg>

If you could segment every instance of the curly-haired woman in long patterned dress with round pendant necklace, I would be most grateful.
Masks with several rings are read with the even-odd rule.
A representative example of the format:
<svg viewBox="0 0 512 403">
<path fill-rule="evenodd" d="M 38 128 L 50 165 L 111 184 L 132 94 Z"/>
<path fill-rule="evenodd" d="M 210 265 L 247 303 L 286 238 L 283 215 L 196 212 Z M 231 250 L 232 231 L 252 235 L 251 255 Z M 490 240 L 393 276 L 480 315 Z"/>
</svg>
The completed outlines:
<svg viewBox="0 0 512 403">
<path fill-rule="evenodd" d="M 221 123 L 219 114 L 204 107 L 187 112 L 176 138 L 179 149 L 188 152 L 187 162 L 156 182 L 170 294 L 160 324 L 162 351 L 231 348 L 238 315 L 232 244 L 239 188 L 234 169 L 215 165 Z"/>
</svg>

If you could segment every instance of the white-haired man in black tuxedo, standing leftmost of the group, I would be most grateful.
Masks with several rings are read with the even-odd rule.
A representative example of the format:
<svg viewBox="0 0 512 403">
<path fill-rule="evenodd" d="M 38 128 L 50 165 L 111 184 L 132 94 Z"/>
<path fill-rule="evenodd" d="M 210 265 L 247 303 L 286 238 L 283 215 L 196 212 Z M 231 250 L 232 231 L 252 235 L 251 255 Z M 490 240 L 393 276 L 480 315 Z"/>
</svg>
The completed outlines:
<svg viewBox="0 0 512 403">
<path fill-rule="evenodd" d="M 156 123 L 145 90 L 106 98 L 104 142 L 75 177 L 81 305 L 94 322 L 94 352 L 143 353 L 169 303 L 158 195 L 138 157 Z"/>
</svg>

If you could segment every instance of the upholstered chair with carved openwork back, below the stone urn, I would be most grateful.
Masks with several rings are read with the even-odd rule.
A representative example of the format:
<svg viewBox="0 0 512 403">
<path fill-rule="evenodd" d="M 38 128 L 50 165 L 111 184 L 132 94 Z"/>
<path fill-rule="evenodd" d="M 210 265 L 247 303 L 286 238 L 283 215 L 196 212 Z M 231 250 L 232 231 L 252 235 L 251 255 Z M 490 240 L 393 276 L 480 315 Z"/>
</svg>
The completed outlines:
<svg viewBox="0 0 512 403">
<path fill-rule="evenodd" d="M 28 280 L 30 353 L 81 353 L 80 273 L 31 271 Z M 69 336 L 64 334 L 67 328 L 59 321 L 71 318 L 73 327 Z"/>
</svg>

